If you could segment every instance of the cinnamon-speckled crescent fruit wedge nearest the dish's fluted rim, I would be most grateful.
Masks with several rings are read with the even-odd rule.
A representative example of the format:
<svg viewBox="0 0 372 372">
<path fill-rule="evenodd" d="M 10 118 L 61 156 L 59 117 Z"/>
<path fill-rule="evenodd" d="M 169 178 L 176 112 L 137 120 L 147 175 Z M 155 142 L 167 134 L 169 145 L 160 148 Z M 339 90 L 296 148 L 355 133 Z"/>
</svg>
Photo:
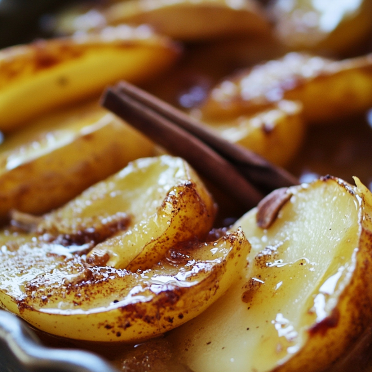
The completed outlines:
<svg viewBox="0 0 372 372">
<path fill-rule="evenodd" d="M 245 264 L 241 230 L 173 247 L 144 272 L 89 266 L 76 246 L 9 241 L 1 250 L 0 301 L 33 327 L 71 339 L 137 342 L 205 310 Z M 84 249 L 84 246 L 80 247 Z"/>
</svg>

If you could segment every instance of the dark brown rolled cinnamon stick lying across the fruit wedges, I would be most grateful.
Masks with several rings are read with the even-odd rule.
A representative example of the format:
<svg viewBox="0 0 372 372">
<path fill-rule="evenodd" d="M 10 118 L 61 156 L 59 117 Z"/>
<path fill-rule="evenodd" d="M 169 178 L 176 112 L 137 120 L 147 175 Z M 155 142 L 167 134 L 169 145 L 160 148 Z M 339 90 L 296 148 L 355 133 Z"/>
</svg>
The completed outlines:
<svg viewBox="0 0 372 372">
<path fill-rule="evenodd" d="M 106 89 L 102 105 L 252 208 L 275 188 L 297 183 L 267 160 L 218 137 L 200 123 L 129 83 Z"/>
</svg>

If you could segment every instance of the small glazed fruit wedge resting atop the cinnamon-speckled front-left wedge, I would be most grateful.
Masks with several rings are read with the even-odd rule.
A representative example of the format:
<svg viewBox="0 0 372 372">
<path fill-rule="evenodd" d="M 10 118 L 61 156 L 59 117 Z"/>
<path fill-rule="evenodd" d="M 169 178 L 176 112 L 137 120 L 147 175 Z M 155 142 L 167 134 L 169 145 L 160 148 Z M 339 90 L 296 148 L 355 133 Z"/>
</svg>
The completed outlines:
<svg viewBox="0 0 372 372">
<path fill-rule="evenodd" d="M 148 269 L 179 241 L 203 239 L 214 201 L 182 159 L 142 158 L 44 216 L 39 234 L 86 243 L 92 264 Z"/>
</svg>

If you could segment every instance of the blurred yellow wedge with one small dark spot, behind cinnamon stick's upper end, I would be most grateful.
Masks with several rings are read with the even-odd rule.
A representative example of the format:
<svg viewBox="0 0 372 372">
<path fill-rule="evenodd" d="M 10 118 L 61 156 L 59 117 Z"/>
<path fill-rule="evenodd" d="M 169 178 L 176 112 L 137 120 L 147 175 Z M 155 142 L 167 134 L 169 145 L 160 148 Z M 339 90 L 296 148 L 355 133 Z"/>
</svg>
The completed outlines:
<svg viewBox="0 0 372 372">
<path fill-rule="evenodd" d="M 99 96 L 117 80 L 144 82 L 164 71 L 179 48 L 146 26 L 38 40 L 0 51 L 0 130 L 48 110 Z"/>
</svg>

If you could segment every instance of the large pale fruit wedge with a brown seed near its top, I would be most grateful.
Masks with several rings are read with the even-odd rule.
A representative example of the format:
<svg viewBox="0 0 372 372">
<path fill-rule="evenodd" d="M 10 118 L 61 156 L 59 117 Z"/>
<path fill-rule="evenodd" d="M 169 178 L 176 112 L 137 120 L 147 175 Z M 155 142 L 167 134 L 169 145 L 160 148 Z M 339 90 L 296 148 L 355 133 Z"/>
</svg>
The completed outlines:
<svg viewBox="0 0 372 372">
<path fill-rule="evenodd" d="M 236 222 L 249 264 L 208 312 L 173 331 L 181 363 L 315 372 L 352 350 L 372 320 L 372 195 L 355 181 L 276 191 Z"/>
</svg>

